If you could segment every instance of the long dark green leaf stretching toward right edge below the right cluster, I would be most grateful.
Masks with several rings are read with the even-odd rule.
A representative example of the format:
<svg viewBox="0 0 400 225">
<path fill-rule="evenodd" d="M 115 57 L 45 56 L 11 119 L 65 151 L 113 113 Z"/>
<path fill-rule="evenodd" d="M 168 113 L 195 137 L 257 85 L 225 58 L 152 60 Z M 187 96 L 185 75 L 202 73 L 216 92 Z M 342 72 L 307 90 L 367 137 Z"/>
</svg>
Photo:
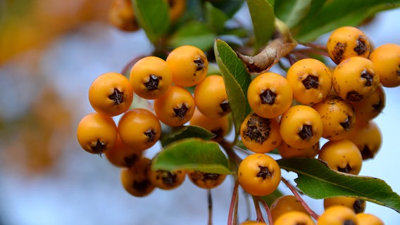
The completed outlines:
<svg viewBox="0 0 400 225">
<path fill-rule="evenodd" d="M 381 179 L 335 172 L 315 158 L 282 159 L 277 163 L 282 169 L 298 174 L 294 181 L 311 198 L 349 196 L 400 212 L 400 196 Z"/>
</svg>

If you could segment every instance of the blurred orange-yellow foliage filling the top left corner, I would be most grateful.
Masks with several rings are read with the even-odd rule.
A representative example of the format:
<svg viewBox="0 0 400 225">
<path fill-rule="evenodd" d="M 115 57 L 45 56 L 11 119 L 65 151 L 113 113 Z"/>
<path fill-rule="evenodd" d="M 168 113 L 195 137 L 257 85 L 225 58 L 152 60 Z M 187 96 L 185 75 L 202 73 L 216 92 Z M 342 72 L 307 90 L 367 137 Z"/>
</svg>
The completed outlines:
<svg viewBox="0 0 400 225">
<path fill-rule="evenodd" d="M 111 0 L 0 1 L 0 65 L 90 21 L 107 22 Z"/>
</svg>

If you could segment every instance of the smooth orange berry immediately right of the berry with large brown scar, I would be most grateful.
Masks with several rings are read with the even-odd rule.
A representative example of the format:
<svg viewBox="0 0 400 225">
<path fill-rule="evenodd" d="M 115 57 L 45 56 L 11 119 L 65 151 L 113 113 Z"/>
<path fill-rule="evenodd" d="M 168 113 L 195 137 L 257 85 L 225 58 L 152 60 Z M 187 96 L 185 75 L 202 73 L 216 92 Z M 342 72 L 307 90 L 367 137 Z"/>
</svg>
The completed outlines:
<svg viewBox="0 0 400 225">
<path fill-rule="evenodd" d="M 323 120 L 307 105 L 294 105 L 280 119 L 280 135 L 294 148 L 310 148 L 323 134 Z"/>
</svg>

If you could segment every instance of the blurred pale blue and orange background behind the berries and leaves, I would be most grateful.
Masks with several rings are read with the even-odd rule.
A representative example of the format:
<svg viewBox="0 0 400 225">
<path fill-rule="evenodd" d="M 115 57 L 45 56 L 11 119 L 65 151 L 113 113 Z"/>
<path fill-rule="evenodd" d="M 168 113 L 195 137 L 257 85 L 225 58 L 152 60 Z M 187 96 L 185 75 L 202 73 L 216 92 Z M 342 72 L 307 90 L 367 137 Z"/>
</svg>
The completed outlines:
<svg viewBox="0 0 400 225">
<path fill-rule="evenodd" d="M 173 191 L 132 197 L 120 184 L 120 170 L 76 141 L 77 123 L 92 112 L 87 91 L 94 78 L 120 72 L 153 50 L 142 30 L 127 33 L 108 24 L 110 6 L 111 0 L 0 0 L 1 225 L 207 223 L 206 191 L 189 180 Z M 236 18 L 249 23 L 246 8 Z M 361 28 L 375 46 L 400 44 L 398 21 L 396 9 Z M 400 89 L 385 91 L 386 108 L 375 119 L 383 145 L 361 175 L 383 179 L 399 193 Z M 212 191 L 215 224 L 227 222 L 232 186 L 227 179 Z M 306 200 L 323 211 L 322 200 Z M 246 207 L 242 211 L 243 220 Z M 389 208 L 367 203 L 365 211 L 386 224 L 400 223 Z"/>
</svg>

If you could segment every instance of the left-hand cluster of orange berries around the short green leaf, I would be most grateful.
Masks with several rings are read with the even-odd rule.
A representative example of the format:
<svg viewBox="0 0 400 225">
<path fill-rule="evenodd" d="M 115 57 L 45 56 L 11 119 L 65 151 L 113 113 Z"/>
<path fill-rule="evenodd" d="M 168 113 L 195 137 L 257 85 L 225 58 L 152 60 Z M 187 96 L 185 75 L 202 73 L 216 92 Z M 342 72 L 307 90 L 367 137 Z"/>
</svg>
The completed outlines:
<svg viewBox="0 0 400 225">
<path fill-rule="evenodd" d="M 214 188 L 225 174 L 199 171 L 151 170 L 143 154 L 161 138 L 161 124 L 180 127 L 186 123 L 204 127 L 220 140 L 230 129 L 230 113 L 223 77 L 207 75 L 206 54 L 194 46 L 173 49 L 163 60 L 139 59 L 127 79 L 116 72 L 99 75 L 89 87 L 89 102 L 95 113 L 82 118 L 77 140 L 89 153 L 104 153 L 109 162 L 122 167 L 121 181 L 127 192 L 144 196 L 154 188 L 180 186 L 186 174 L 196 186 Z M 194 94 L 187 87 L 195 86 Z M 134 98 L 151 102 L 151 109 L 132 108 Z M 209 98 L 213 96 L 213 98 Z M 120 115 L 118 124 L 113 117 Z"/>
</svg>

